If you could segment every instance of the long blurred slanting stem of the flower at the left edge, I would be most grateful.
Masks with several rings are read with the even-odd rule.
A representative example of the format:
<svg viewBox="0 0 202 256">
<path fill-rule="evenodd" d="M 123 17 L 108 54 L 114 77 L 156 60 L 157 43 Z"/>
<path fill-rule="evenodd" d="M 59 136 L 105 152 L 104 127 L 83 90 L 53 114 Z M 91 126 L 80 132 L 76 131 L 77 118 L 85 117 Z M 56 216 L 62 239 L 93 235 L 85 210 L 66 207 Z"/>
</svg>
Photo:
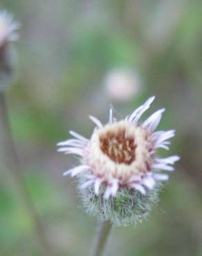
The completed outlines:
<svg viewBox="0 0 202 256">
<path fill-rule="evenodd" d="M 19 158 L 17 156 L 17 151 L 15 148 L 15 143 L 12 138 L 12 132 L 10 129 L 10 123 L 8 118 L 8 108 L 6 104 L 6 94 L 4 92 L 0 93 L 0 129 L 2 135 L 2 144 L 3 149 L 6 154 L 6 157 L 3 160 L 6 160 L 6 165 L 8 166 L 12 177 L 17 185 L 19 193 L 21 194 L 21 199 L 26 207 L 28 216 L 33 223 L 35 228 L 35 235 L 39 241 L 40 246 L 42 247 L 43 254 L 46 256 L 52 255 L 52 252 L 49 248 L 46 236 L 44 234 L 44 228 L 39 219 L 35 205 L 33 204 L 26 183 L 24 182 L 24 176 L 21 171 L 21 166 L 19 163 Z"/>
</svg>

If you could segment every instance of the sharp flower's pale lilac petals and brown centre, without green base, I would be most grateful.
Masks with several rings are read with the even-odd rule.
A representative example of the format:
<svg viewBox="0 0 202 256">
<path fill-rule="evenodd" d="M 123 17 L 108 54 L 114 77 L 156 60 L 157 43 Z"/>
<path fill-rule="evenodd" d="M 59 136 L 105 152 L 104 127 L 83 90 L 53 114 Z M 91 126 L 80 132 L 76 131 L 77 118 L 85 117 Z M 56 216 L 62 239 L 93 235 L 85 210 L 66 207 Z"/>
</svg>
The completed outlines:
<svg viewBox="0 0 202 256">
<path fill-rule="evenodd" d="M 172 165 L 179 157 L 156 156 L 156 149 L 169 149 L 167 140 L 174 136 L 174 130 L 154 131 L 165 109 L 154 112 L 138 125 L 140 117 L 153 101 L 154 97 L 149 98 L 120 121 L 113 117 L 110 109 L 107 125 L 90 116 L 96 125 L 90 139 L 70 131 L 75 138 L 58 143 L 58 151 L 81 156 L 82 164 L 64 172 L 64 175 L 84 176 L 81 188 L 93 185 L 94 193 L 99 195 L 102 187 L 105 199 L 116 196 L 120 188 L 145 195 L 155 188 L 156 181 L 167 180 L 167 174 L 161 174 L 159 170 L 173 171 Z"/>
</svg>

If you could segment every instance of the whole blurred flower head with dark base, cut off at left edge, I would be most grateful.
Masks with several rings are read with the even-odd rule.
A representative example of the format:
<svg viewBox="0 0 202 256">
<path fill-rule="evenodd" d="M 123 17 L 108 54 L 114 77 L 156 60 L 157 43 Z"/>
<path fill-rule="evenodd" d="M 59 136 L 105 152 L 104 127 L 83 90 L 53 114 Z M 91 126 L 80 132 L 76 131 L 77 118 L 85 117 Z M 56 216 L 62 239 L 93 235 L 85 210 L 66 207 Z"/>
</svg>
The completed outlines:
<svg viewBox="0 0 202 256">
<path fill-rule="evenodd" d="M 12 15 L 0 12 L 0 91 L 5 91 L 12 82 L 16 58 L 10 42 L 18 39 L 17 28 L 19 24 Z"/>
</svg>

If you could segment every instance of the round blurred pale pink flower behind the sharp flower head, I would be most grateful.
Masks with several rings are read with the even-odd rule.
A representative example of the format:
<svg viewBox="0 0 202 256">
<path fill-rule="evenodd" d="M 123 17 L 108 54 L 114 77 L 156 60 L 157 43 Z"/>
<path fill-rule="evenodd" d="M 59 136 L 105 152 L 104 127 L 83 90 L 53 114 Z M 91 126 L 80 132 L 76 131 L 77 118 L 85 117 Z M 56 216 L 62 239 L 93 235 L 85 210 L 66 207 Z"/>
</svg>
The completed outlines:
<svg viewBox="0 0 202 256">
<path fill-rule="evenodd" d="M 116 68 L 107 74 L 104 85 L 111 100 L 130 100 L 140 91 L 140 77 L 129 68 Z"/>
</svg>

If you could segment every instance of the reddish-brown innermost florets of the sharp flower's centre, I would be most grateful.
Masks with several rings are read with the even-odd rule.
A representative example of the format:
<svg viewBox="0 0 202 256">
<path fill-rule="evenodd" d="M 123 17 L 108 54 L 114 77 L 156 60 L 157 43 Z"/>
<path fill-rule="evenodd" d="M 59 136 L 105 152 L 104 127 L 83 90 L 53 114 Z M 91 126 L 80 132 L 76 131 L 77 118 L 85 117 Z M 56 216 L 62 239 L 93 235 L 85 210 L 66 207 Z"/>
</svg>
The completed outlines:
<svg viewBox="0 0 202 256">
<path fill-rule="evenodd" d="M 134 138 L 127 138 L 125 129 L 117 134 L 108 131 L 100 136 L 100 148 L 115 163 L 130 165 L 136 158 L 136 144 Z"/>
</svg>

